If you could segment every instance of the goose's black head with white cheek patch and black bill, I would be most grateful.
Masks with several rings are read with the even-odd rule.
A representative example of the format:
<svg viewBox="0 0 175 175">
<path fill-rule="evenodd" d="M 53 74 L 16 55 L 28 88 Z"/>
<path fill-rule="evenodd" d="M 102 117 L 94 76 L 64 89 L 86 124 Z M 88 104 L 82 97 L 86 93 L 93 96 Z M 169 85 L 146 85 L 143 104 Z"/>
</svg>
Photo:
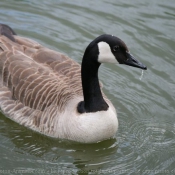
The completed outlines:
<svg viewBox="0 0 175 175">
<path fill-rule="evenodd" d="M 147 69 L 145 65 L 136 60 L 127 48 L 126 44 L 113 35 L 101 35 L 97 37 L 89 46 L 88 50 L 96 46 L 98 49 L 99 63 L 119 63 L 126 64 L 140 69 Z M 93 49 L 92 49 L 93 50 Z"/>
</svg>

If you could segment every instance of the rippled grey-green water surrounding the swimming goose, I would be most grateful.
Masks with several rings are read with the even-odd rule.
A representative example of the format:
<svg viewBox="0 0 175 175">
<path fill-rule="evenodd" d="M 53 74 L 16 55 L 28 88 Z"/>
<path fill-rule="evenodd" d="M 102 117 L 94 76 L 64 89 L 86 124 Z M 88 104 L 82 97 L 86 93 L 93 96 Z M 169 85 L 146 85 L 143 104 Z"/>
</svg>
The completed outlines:
<svg viewBox="0 0 175 175">
<path fill-rule="evenodd" d="M 1 0 L 0 22 L 81 63 L 89 42 L 120 37 L 147 65 L 106 64 L 100 79 L 118 112 L 113 139 L 51 139 L 0 115 L 0 174 L 175 174 L 175 4 L 169 1 Z"/>
</svg>

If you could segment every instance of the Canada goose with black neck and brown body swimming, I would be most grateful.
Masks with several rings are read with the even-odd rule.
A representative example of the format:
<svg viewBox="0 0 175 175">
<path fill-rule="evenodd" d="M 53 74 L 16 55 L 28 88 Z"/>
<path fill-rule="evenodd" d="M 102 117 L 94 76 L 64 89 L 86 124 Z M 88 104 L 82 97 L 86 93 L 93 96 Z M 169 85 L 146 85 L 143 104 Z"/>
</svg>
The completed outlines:
<svg viewBox="0 0 175 175">
<path fill-rule="evenodd" d="M 0 109 L 11 120 L 49 137 L 94 143 L 118 130 L 115 107 L 102 92 L 102 63 L 145 65 L 116 36 L 103 34 L 82 64 L 0 24 Z"/>
</svg>

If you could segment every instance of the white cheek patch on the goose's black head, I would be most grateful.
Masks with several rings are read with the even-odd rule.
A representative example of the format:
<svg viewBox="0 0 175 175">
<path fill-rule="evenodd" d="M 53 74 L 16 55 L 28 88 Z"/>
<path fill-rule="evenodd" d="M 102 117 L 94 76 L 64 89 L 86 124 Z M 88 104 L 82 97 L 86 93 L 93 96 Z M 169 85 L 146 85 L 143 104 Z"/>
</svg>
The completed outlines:
<svg viewBox="0 0 175 175">
<path fill-rule="evenodd" d="M 109 44 L 106 42 L 99 42 L 98 43 L 98 50 L 99 50 L 99 55 L 98 55 L 98 62 L 99 63 L 118 63 L 116 60 L 115 56 L 111 52 L 111 48 Z"/>
</svg>

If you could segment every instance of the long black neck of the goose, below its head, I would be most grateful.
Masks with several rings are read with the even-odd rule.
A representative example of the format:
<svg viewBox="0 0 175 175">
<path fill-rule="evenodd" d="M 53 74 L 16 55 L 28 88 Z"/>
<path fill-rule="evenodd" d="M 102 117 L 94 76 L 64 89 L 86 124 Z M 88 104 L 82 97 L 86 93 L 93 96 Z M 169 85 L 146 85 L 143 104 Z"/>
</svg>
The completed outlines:
<svg viewBox="0 0 175 175">
<path fill-rule="evenodd" d="M 108 109 L 108 104 L 103 99 L 98 81 L 99 66 L 100 63 L 98 63 L 97 58 L 84 54 L 81 67 L 84 101 L 78 104 L 78 112 L 80 113 L 106 111 Z"/>
</svg>

